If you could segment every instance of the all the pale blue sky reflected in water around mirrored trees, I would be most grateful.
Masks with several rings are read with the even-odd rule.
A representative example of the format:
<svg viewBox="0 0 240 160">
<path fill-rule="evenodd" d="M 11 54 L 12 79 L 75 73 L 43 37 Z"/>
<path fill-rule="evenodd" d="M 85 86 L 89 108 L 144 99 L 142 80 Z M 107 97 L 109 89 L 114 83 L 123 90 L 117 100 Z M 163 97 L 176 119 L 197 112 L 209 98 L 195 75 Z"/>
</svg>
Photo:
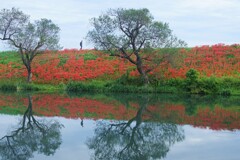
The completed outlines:
<svg viewBox="0 0 240 160">
<path fill-rule="evenodd" d="M 11 131 L 21 119 L 20 116 L 0 115 L 0 138 Z M 64 125 L 62 128 L 62 144 L 54 156 L 35 155 L 34 160 L 88 160 L 91 151 L 85 145 L 92 137 L 95 121 L 80 119 L 55 119 Z M 239 160 L 240 131 L 213 131 L 210 129 L 183 126 L 185 140 L 175 143 L 170 148 L 166 160 Z"/>
</svg>

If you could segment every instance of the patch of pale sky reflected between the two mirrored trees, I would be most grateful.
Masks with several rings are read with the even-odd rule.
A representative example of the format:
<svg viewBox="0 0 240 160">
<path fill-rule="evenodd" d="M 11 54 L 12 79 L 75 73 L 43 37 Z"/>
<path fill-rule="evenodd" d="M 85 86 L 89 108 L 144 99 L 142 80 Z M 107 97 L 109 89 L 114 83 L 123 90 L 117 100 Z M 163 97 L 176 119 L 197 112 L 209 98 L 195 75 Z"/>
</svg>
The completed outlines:
<svg viewBox="0 0 240 160">
<path fill-rule="evenodd" d="M 46 157 L 36 155 L 34 159 L 47 160 L 88 160 L 90 151 L 85 145 L 86 139 L 93 136 L 95 122 L 93 120 L 83 120 L 83 127 L 80 119 L 57 118 L 57 121 L 64 125 L 61 130 L 62 144 L 54 156 Z"/>
</svg>

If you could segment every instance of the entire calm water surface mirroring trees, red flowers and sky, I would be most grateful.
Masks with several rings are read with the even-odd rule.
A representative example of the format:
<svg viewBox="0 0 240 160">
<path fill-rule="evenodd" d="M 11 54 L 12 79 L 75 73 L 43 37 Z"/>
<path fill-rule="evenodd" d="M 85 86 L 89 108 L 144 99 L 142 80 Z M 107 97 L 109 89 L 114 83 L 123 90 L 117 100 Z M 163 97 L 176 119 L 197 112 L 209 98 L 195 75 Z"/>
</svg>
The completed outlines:
<svg viewBox="0 0 240 160">
<path fill-rule="evenodd" d="M 239 160 L 239 98 L 0 93 L 0 159 Z"/>
</svg>

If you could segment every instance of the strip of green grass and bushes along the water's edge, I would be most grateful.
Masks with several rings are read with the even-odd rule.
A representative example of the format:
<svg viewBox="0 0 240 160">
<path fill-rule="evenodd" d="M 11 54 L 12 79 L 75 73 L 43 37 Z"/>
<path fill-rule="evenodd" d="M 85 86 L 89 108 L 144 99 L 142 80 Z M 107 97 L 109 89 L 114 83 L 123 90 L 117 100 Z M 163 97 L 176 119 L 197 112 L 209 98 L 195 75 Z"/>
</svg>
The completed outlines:
<svg viewBox="0 0 240 160">
<path fill-rule="evenodd" d="M 126 80 L 127 79 L 127 80 Z M 40 91 L 40 92 L 94 92 L 94 93 L 190 93 L 218 94 L 223 96 L 240 95 L 240 80 L 237 78 L 200 78 L 194 83 L 184 79 L 152 81 L 149 85 L 138 82 L 138 78 L 121 77 L 118 80 L 88 80 L 67 84 L 26 83 L 25 79 L 0 80 L 2 91 Z M 185 87 L 188 87 L 186 90 Z M 190 90 L 189 90 L 190 89 Z"/>
</svg>

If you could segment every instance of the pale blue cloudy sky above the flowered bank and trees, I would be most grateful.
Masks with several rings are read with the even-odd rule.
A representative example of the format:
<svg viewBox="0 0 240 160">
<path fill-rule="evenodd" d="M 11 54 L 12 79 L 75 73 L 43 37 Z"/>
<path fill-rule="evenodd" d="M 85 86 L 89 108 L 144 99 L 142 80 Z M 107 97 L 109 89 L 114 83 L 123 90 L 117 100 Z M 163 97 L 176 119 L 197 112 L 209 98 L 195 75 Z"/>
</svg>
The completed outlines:
<svg viewBox="0 0 240 160">
<path fill-rule="evenodd" d="M 240 43 L 240 0 L 0 0 L 0 9 L 18 8 L 31 21 L 51 19 L 60 28 L 60 45 L 93 48 L 86 41 L 90 19 L 108 9 L 147 8 L 155 21 L 166 22 L 189 47 Z M 8 49 L 0 42 L 0 51 Z"/>
</svg>

